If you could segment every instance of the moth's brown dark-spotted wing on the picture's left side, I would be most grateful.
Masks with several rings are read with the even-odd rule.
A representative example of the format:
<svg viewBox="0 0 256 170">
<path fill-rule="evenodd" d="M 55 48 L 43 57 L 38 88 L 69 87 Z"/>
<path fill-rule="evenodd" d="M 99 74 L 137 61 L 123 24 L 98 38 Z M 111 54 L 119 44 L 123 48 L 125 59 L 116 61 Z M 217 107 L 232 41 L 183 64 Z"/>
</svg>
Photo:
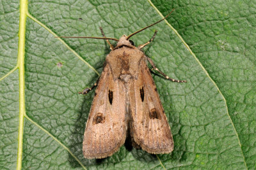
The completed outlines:
<svg viewBox="0 0 256 170">
<path fill-rule="evenodd" d="M 124 91 L 124 84 L 114 80 L 106 62 L 84 131 L 83 155 L 87 159 L 113 155 L 124 144 L 127 131 Z"/>
</svg>

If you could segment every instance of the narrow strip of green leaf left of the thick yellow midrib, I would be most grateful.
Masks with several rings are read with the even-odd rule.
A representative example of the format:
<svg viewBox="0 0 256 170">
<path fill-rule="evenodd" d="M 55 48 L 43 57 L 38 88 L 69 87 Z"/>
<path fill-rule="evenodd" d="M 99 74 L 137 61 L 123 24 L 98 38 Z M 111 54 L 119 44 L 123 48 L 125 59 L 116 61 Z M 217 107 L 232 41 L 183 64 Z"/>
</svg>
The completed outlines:
<svg viewBox="0 0 256 170">
<path fill-rule="evenodd" d="M 0 15 L 0 169 L 15 169 L 19 127 L 17 49 L 19 4 L 1 1 Z"/>
</svg>

